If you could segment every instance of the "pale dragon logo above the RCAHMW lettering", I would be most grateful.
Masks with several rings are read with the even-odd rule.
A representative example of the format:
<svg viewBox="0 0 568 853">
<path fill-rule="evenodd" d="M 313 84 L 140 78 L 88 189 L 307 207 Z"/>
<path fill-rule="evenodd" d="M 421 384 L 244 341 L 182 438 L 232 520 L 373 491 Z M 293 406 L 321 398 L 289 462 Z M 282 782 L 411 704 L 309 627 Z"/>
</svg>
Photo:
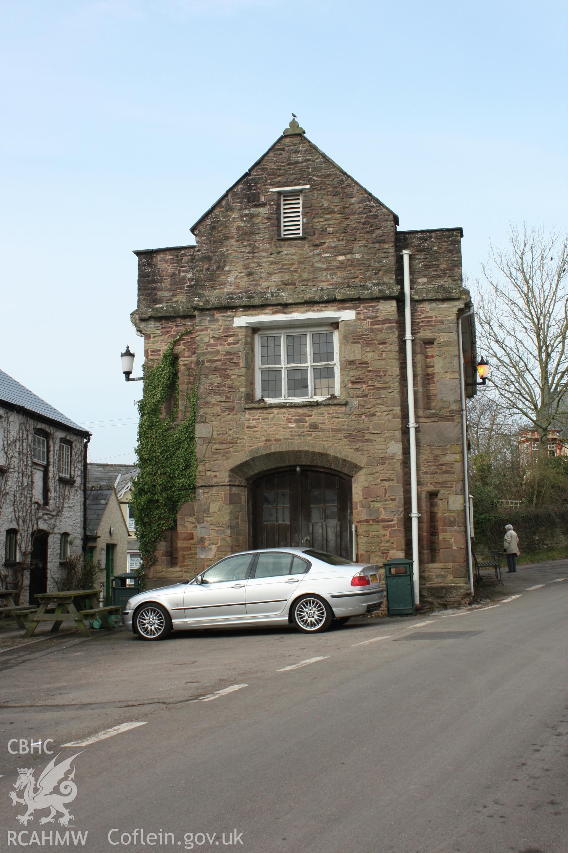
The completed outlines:
<svg viewBox="0 0 568 853">
<path fill-rule="evenodd" d="M 18 769 L 18 778 L 14 784 L 14 791 L 9 792 L 9 798 L 16 805 L 21 803 L 27 807 L 25 815 L 16 815 L 16 819 L 27 826 L 28 821 L 33 821 L 33 812 L 36 809 L 49 809 L 47 817 L 40 818 L 40 823 L 53 823 L 55 815 L 60 814 L 59 822 L 64 827 L 69 821 L 73 820 L 73 815 L 69 814 L 66 809 L 67 803 L 77 797 L 77 785 L 73 781 L 75 768 L 72 769 L 73 759 L 80 755 L 76 752 L 65 761 L 55 764 L 59 755 L 49 762 L 48 766 L 43 770 L 42 775 L 37 780 L 33 778 L 35 770 L 31 767 L 22 767 Z M 72 769 L 70 775 L 66 777 L 66 773 Z M 56 790 L 59 788 L 59 790 Z M 16 791 L 21 791 L 23 796 L 17 797 Z"/>
</svg>

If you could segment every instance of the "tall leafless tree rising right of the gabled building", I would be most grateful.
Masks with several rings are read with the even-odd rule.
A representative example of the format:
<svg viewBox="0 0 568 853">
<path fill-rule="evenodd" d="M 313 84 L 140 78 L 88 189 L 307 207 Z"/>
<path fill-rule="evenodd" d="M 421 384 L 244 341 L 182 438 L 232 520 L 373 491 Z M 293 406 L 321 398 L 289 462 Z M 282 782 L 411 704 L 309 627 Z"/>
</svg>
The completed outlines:
<svg viewBox="0 0 568 853">
<path fill-rule="evenodd" d="M 507 249 L 491 245 L 479 286 L 478 349 L 491 362 L 491 382 L 545 451 L 568 403 L 567 268 L 566 235 L 512 226 Z"/>
</svg>

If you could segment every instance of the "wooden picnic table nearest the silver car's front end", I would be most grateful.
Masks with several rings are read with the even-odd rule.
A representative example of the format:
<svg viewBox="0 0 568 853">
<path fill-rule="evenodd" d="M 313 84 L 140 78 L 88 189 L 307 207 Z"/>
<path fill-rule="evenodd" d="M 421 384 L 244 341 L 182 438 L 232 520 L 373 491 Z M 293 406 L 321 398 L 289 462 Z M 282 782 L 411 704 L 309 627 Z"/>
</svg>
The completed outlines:
<svg viewBox="0 0 568 853">
<path fill-rule="evenodd" d="M 123 609 L 120 605 L 100 607 L 98 589 L 66 589 L 65 592 L 39 593 L 36 597 L 39 608 L 29 618 L 26 637 L 32 636 L 40 622 L 53 622 L 52 634 L 60 630 L 64 622 L 74 623 L 79 633 L 89 637 L 84 620 L 100 618 L 103 628 L 110 631 L 112 624 L 109 614 L 118 615 Z"/>
</svg>

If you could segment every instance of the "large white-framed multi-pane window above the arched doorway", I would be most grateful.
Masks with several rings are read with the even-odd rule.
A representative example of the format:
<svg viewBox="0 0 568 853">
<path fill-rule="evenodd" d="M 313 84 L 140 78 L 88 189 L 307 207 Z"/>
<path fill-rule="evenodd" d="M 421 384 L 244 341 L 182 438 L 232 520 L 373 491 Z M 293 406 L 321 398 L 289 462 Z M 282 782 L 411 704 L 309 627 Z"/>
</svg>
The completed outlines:
<svg viewBox="0 0 568 853">
<path fill-rule="evenodd" d="M 263 329 L 255 335 L 256 398 L 324 400 L 340 396 L 337 330 Z"/>
</svg>

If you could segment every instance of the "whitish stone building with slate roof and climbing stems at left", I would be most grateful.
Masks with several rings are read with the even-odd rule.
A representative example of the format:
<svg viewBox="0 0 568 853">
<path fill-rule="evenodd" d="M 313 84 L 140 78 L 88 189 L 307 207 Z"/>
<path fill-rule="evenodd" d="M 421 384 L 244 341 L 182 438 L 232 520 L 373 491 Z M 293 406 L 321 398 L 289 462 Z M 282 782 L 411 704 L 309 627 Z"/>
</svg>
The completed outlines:
<svg viewBox="0 0 568 853">
<path fill-rule="evenodd" d="M 86 548 L 89 437 L 0 370 L 0 579 L 21 603 L 56 589 L 66 560 Z"/>
</svg>

